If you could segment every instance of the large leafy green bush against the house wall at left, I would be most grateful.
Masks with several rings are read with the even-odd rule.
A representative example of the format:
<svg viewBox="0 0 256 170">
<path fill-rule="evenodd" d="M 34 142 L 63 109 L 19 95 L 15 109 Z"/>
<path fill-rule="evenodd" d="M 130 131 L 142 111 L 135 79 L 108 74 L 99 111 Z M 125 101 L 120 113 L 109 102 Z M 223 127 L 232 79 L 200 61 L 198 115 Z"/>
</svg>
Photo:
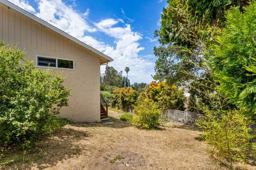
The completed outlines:
<svg viewBox="0 0 256 170">
<path fill-rule="evenodd" d="M 23 60 L 22 50 L 0 42 L 0 143 L 25 143 L 25 147 L 59 129 L 62 106 L 70 91 L 59 74 L 39 70 Z M 23 62 L 21 63 L 21 61 Z"/>
</svg>

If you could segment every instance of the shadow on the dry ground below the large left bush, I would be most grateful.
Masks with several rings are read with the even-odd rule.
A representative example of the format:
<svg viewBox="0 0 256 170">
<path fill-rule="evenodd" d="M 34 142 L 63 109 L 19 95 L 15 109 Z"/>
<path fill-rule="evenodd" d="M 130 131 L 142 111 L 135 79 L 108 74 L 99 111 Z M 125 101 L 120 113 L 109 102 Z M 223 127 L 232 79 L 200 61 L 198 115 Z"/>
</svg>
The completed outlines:
<svg viewBox="0 0 256 170">
<path fill-rule="evenodd" d="M 57 164 L 64 158 L 80 155 L 84 148 L 76 145 L 76 141 L 89 137 L 85 131 L 69 127 L 44 137 L 35 147 L 28 150 L 0 147 L 0 169 L 43 169 Z"/>
</svg>

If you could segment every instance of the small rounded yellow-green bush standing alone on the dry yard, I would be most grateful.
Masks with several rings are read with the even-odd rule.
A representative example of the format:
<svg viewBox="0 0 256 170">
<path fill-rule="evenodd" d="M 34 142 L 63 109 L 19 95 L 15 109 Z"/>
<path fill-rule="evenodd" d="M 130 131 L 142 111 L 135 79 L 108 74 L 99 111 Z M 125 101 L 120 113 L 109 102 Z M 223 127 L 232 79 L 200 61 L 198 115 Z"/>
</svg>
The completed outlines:
<svg viewBox="0 0 256 170">
<path fill-rule="evenodd" d="M 133 117 L 132 122 L 141 128 L 155 129 L 161 123 L 162 111 L 153 100 L 146 98 L 140 101 L 134 112 L 137 116 Z"/>
</svg>

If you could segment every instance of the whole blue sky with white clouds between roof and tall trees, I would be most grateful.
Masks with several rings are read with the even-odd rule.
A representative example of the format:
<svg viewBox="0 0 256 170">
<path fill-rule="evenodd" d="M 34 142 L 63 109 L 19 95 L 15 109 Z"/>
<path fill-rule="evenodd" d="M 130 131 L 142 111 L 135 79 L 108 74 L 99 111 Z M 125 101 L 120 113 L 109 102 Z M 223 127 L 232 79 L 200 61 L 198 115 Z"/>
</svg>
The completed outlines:
<svg viewBox="0 0 256 170">
<path fill-rule="evenodd" d="M 129 66 L 131 82 L 150 83 L 154 75 L 164 0 L 9 0 L 112 57 L 118 71 Z M 101 66 L 101 73 L 105 66 Z"/>
</svg>

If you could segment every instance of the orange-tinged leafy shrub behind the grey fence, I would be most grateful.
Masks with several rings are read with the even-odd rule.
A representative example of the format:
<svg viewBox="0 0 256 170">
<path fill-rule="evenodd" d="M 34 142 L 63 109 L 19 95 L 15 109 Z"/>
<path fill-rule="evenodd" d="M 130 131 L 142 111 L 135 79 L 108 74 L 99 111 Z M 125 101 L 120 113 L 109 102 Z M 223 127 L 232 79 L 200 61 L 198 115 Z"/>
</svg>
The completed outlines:
<svg viewBox="0 0 256 170">
<path fill-rule="evenodd" d="M 179 109 L 184 111 L 186 97 L 184 91 L 177 86 L 169 86 L 165 82 L 151 82 L 145 89 L 145 94 L 140 94 L 140 100 L 145 98 L 153 100 L 158 107 L 164 111 L 166 109 Z"/>
</svg>

